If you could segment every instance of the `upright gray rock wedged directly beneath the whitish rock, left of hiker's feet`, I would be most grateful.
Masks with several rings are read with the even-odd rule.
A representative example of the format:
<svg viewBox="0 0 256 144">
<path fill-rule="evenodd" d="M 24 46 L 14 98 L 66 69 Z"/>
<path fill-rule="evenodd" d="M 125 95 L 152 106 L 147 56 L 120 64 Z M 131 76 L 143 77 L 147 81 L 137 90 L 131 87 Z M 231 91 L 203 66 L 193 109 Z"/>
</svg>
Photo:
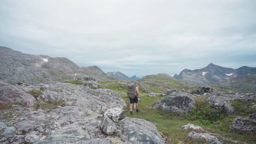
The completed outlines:
<svg viewBox="0 0 256 144">
<path fill-rule="evenodd" d="M 101 123 L 101 130 L 107 135 L 113 135 L 117 130 L 117 126 L 108 116 L 105 116 Z"/>
</svg>

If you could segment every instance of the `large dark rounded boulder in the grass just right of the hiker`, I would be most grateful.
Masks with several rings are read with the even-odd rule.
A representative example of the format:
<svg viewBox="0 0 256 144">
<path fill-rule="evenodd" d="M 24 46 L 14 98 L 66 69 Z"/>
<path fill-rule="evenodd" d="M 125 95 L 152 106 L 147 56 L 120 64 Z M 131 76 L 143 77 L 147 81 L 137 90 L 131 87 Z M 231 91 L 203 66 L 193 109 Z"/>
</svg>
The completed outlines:
<svg viewBox="0 0 256 144">
<path fill-rule="evenodd" d="M 195 108 L 195 100 L 189 93 L 173 92 L 171 95 L 154 103 L 151 109 L 161 109 L 165 112 L 185 113 Z"/>
</svg>

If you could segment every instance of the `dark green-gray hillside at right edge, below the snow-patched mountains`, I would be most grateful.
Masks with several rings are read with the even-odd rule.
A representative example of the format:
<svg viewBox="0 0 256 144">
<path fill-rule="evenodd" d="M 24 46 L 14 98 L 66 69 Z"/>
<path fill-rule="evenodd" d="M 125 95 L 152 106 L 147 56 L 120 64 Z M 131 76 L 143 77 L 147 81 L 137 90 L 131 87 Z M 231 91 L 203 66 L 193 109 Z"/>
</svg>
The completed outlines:
<svg viewBox="0 0 256 144">
<path fill-rule="evenodd" d="M 234 89 L 240 93 L 256 93 L 256 75 L 237 76 L 219 82 L 218 85 Z"/>
</svg>

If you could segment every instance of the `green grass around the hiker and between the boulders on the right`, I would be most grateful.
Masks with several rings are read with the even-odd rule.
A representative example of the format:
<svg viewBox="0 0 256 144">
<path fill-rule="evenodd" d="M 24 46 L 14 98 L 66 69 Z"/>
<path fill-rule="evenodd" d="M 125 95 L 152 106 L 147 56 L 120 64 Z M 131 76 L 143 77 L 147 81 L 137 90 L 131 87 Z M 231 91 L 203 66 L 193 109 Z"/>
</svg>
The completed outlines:
<svg viewBox="0 0 256 144">
<path fill-rule="evenodd" d="M 126 98 L 126 87 L 121 86 L 118 81 L 101 81 L 101 88 L 109 88 L 117 91 L 121 98 L 125 100 L 127 106 L 129 106 L 129 99 Z M 179 85 L 181 86 L 181 85 Z M 191 87 L 189 87 L 191 88 Z M 139 88 L 141 95 L 146 95 L 145 89 Z M 241 112 L 245 111 L 245 103 L 240 103 L 240 101 L 233 101 L 231 104 L 236 105 L 235 107 L 241 107 L 238 109 L 238 113 L 230 116 L 224 116 L 222 113 L 218 113 L 216 110 L 212 109 L 208 103 L 202 102 L 206 96 L 199 95 L 194 97 L 196 100 L 197 109 L 188 113 L 187 115 L 178 115 L 177 113 L 165 113 L 161 110 L 151 110 L 150 106 L 154 101 L 163 98 L 163 97 L 139 97 L 139 109 L 140 112 L 133 112 L 133 115 L 129 113 L 129 107 L 126 107 L 128 112 L 125 113 L 126 117 L 132 118 L 141 118 L 146 119 L 149 122 L 152 122 L 156 125 L 156 128 L 162 133 L 162 136 L 171 137 L 172 140 L 170 143 L 207 143 L 205 141 L 191 141 L 186 139 L 190 131 L 182 131 L 182 125 L 186 124 L 195 124 L 200 127 L 211 131 L 211 133 L 217 133 L 220 136 L 227 137 L 231 140 L 242 141 L 255 143 L 255 137 L 247 134 L 236 134 L 230 131 L 230 126 L 234 119 Z M 236 104 L 234 104 L 236 103 Z M 211 113 L 211 115 L 209 115 Z M 217 115 L 214 115 L 217 113 Z M 245 111 L 245 115 L 251 113 L 251 110 L 248 112 Z M 213 116 L 212 116 L 213 115 Z M 234 143 L 232 141 L 224 141 L 225 143 Z"/>
</svg>

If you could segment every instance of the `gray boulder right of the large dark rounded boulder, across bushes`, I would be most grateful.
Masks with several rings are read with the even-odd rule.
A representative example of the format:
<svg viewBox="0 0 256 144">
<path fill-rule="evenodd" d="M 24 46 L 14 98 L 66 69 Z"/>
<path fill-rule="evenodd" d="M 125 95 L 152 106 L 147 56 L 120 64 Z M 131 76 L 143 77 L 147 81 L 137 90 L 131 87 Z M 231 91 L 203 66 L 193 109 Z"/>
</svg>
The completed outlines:
<svg viewBox="0 0 256 144">
<path fill-rule="evenodd" d="M 225 95 L 210 95 L 206 97 L 206 101 L 211 107 L 226 115 L 230 115 L 235 111 L 234 107 L 230 104 L 231 98 L 225 97 Z"/>
</svg>

